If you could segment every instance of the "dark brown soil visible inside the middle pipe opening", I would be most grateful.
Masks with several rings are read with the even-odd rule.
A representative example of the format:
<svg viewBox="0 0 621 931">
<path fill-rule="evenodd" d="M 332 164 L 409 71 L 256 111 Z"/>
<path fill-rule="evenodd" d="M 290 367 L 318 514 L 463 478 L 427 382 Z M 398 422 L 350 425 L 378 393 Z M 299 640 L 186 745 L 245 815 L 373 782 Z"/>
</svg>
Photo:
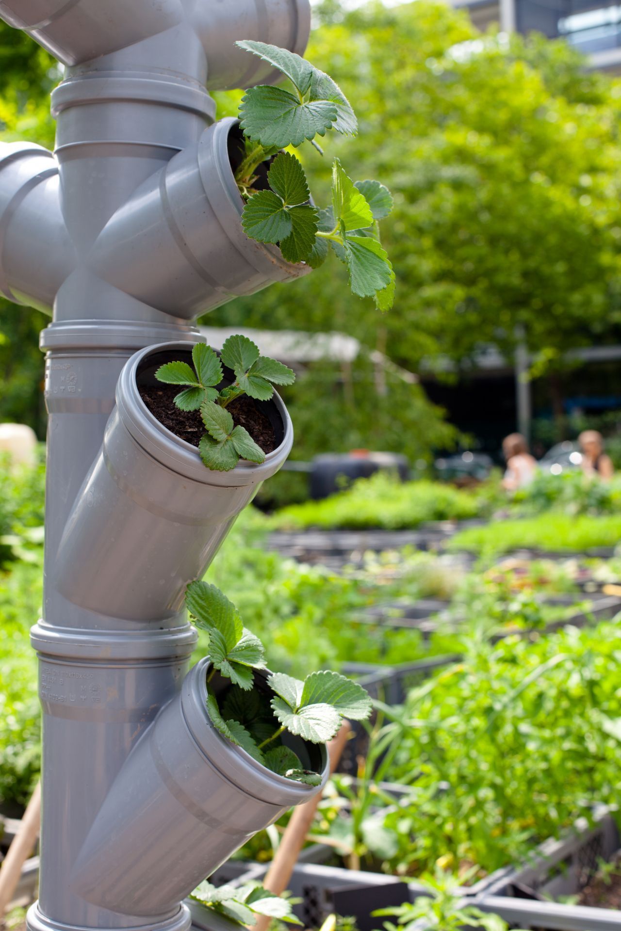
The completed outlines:
<svg viewBox="0 0 621 931">
<path fill-rule="evenodd" d="M 174 398 L 180 392 L 179 385 L 148 385 L 139 387 L 138 390 L 149 411 L 160 424 L 179 439 L 198 446 L 200 438 L 205 433 L 205 425 L 199 411 L 180 411 L 175 405 Z M 276 449 L 274 427 L 265 414 L 257 408 L 252 398 L 242 395 L 241 398 L 231 401 L 226 410 L 233 417 L 233 423 L 236 426 L 245 427 L 264 453 L 274 452 Z"/>
</svg>

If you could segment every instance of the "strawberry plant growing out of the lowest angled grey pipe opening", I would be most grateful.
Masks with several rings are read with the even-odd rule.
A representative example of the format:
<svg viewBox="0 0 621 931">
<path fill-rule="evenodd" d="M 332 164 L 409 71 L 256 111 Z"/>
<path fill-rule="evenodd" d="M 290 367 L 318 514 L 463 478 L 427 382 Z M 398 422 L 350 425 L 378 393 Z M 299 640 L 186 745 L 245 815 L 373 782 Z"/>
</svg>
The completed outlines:
<svg viewBox="0 0 621 931">
<path fill-rule="evenodd" d="M 279 776 L 319 785 L 320 774 L 304 769 L 283 735 L 314 744 L 331 740 L 345 717 L 369 717 L 369 695 L 357 682 L 328 670 L 311 672 L 304 681 L 270 673 L 262 689 L 255 673 L 265 668 L 263 643 L 243 626 L 235 605 L 207 582 L 192 582 L 185 604 L 209 634 L 207 709 L 214 727 Z M 219 697 L 209 689 L 216 671 L 231 681 Z"/>
</svg>

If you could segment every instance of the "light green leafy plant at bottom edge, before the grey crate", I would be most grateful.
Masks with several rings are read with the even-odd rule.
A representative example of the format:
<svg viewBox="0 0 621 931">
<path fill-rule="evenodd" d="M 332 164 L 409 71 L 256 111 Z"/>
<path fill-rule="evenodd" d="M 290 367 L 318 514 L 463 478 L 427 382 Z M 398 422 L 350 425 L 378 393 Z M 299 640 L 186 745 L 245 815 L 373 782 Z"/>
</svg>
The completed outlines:
<svg viewBox="0 0 621 931">
<path fill-rule="evenodd" d="M 480 911 L 464 902 L 458 882 L 440 868 L 419 878 L 429 895 L 414 902 L 389 909 L 378 909 L 373 915 L 394 916 L 396 922 L 385 922 L 386 931 L 461 931 L 462 928 L 483 928 L 484 931 L 507 931 L 508 924 L 499 916 Z"/>
</svg>

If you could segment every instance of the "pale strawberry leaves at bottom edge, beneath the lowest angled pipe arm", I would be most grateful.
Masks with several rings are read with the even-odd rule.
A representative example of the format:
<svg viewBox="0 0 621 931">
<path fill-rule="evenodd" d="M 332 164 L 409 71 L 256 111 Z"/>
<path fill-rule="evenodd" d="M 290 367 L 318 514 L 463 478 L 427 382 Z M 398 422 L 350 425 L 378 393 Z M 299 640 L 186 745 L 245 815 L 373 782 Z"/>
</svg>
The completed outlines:
<svg viewBox="0 0 621 931">
<path fill-rule="evenodd" d="M 240 927 L 257 924 L 260 915 L 288 924 L 302 924 L 293 914 L 290 899 L 277 896 L 260 883 L 216 887 L 205 880 L 196 886 L 191 897 Z"/>
</svg>

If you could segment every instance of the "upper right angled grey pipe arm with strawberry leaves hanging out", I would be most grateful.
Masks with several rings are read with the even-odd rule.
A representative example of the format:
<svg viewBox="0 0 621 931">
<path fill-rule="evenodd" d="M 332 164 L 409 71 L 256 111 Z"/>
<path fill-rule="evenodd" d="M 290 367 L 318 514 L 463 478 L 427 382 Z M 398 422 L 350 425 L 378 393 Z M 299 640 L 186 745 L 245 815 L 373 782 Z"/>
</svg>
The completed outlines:
<svg viewBox="0 0 621 931">
<path fill-rule="evenodd" d="M 244 233 L 231 168 L 237 140 L 236 120 L 223 119 L 144 182 L 95 242 L 93 272 L 145 304 L 189 318 L 310 271 Z"/>
</svg>

